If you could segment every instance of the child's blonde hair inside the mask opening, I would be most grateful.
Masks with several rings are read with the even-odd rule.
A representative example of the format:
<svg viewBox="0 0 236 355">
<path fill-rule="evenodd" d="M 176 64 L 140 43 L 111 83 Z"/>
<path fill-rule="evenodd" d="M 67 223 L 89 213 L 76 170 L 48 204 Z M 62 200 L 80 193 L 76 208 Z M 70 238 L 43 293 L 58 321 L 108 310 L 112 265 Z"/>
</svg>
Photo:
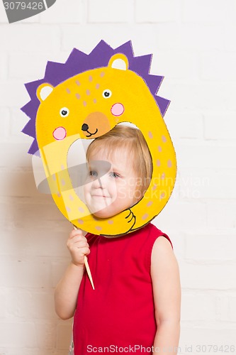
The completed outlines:
<svg viewBox="0 0 236 355">
<path fill-rule="evenodd" d="M 89 161 L 94 151 L 97 153 L 104 150 L 109 157 L 116 149 L 128 149 L 130 163 L 140 180 L 137 190 L 140 191 L 142 197 L 152 178 L 152 158 L 140 129 L 121 124 L 115 126 L 108 133 L 94 139 L 86 151 L 86 158 Z"/>
</svg>

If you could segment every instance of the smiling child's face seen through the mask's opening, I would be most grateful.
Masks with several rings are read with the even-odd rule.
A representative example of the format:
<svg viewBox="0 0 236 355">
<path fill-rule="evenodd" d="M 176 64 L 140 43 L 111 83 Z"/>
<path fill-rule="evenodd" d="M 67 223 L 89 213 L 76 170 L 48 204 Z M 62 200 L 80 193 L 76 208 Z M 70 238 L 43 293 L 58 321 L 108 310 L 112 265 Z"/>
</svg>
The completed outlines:
<svg viewBox="0 0 236 355">
<path fill-rule="evenodd" d="M 125 149 L 116 149 L 109 158 L 106 150 L 91 153 L 88 163 L 84 198 L 96 217 L 112 217 L 140 200 L 137 175 Z"/>
</svg>

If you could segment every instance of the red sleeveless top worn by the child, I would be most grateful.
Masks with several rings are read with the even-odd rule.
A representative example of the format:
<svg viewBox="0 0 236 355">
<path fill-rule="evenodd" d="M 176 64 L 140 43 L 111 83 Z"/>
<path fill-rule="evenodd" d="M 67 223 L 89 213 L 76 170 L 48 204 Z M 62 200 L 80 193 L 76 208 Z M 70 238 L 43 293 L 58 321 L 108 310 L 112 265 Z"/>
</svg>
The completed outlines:
<svg viewBox="0 0 236 355">
<path fill-rule="evenodd" d="M 95 290 L 85 272 L 74 313 L 74 355 L 152 354 L 157 324 L 150 265 L 159 236 L 170 241 L 153 224 L 113 239 L 87 234 Z"/>
</svg>

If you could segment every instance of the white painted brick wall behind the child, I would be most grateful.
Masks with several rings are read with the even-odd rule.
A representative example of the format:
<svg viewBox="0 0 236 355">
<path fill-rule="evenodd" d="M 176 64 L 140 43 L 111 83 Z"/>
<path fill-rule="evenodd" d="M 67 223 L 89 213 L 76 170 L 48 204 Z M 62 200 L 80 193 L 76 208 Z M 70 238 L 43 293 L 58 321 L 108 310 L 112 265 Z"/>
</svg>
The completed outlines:
<svg viewBox="0 0 236 355">
<path fill-rule="evenodd" d="M 71 226 L 35 188 L 19 108 L 23 83 L 43 77 L 47 60 L 89 53 L 101 39 L 154 53 L 159 94 L 172 100 L 165 120 L 178 178 L 154 223 L 179 260 L 179 352 L 236 345 L 235 18 L 235 0 L 57 0 L 9 25 L 0 4 L 0 355 L 67 355 L 72 324 L 55 315 L 53 290 Z"/>
</svg>

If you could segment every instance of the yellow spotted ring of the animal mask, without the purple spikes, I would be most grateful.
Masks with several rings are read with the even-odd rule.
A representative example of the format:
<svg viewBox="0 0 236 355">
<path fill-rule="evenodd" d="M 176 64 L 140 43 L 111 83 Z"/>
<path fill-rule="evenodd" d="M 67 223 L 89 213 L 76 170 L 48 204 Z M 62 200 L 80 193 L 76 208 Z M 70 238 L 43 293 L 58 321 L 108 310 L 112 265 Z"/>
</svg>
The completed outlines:
<svg viewBox="0 0 236 355">
<path fill-rule="evenodd" d="M 121 235 L 150 222 L 167 204 L 176 178 L 176 155 L 156 99 L 129 69 L 128 56 L 80 72 L 53 86 L 38 86 L 36 139 L 53 200 L 69 222 L 94 234 Z M 23 111 L 27 111 L 24 110 Z M 79 139 L 102 136 L 122 122 L 135 124 L 152 156 L 152 180 L 140 202 L 113 217 L 94 217 L 75 192 L 67 154 Z"/>
</svg>

